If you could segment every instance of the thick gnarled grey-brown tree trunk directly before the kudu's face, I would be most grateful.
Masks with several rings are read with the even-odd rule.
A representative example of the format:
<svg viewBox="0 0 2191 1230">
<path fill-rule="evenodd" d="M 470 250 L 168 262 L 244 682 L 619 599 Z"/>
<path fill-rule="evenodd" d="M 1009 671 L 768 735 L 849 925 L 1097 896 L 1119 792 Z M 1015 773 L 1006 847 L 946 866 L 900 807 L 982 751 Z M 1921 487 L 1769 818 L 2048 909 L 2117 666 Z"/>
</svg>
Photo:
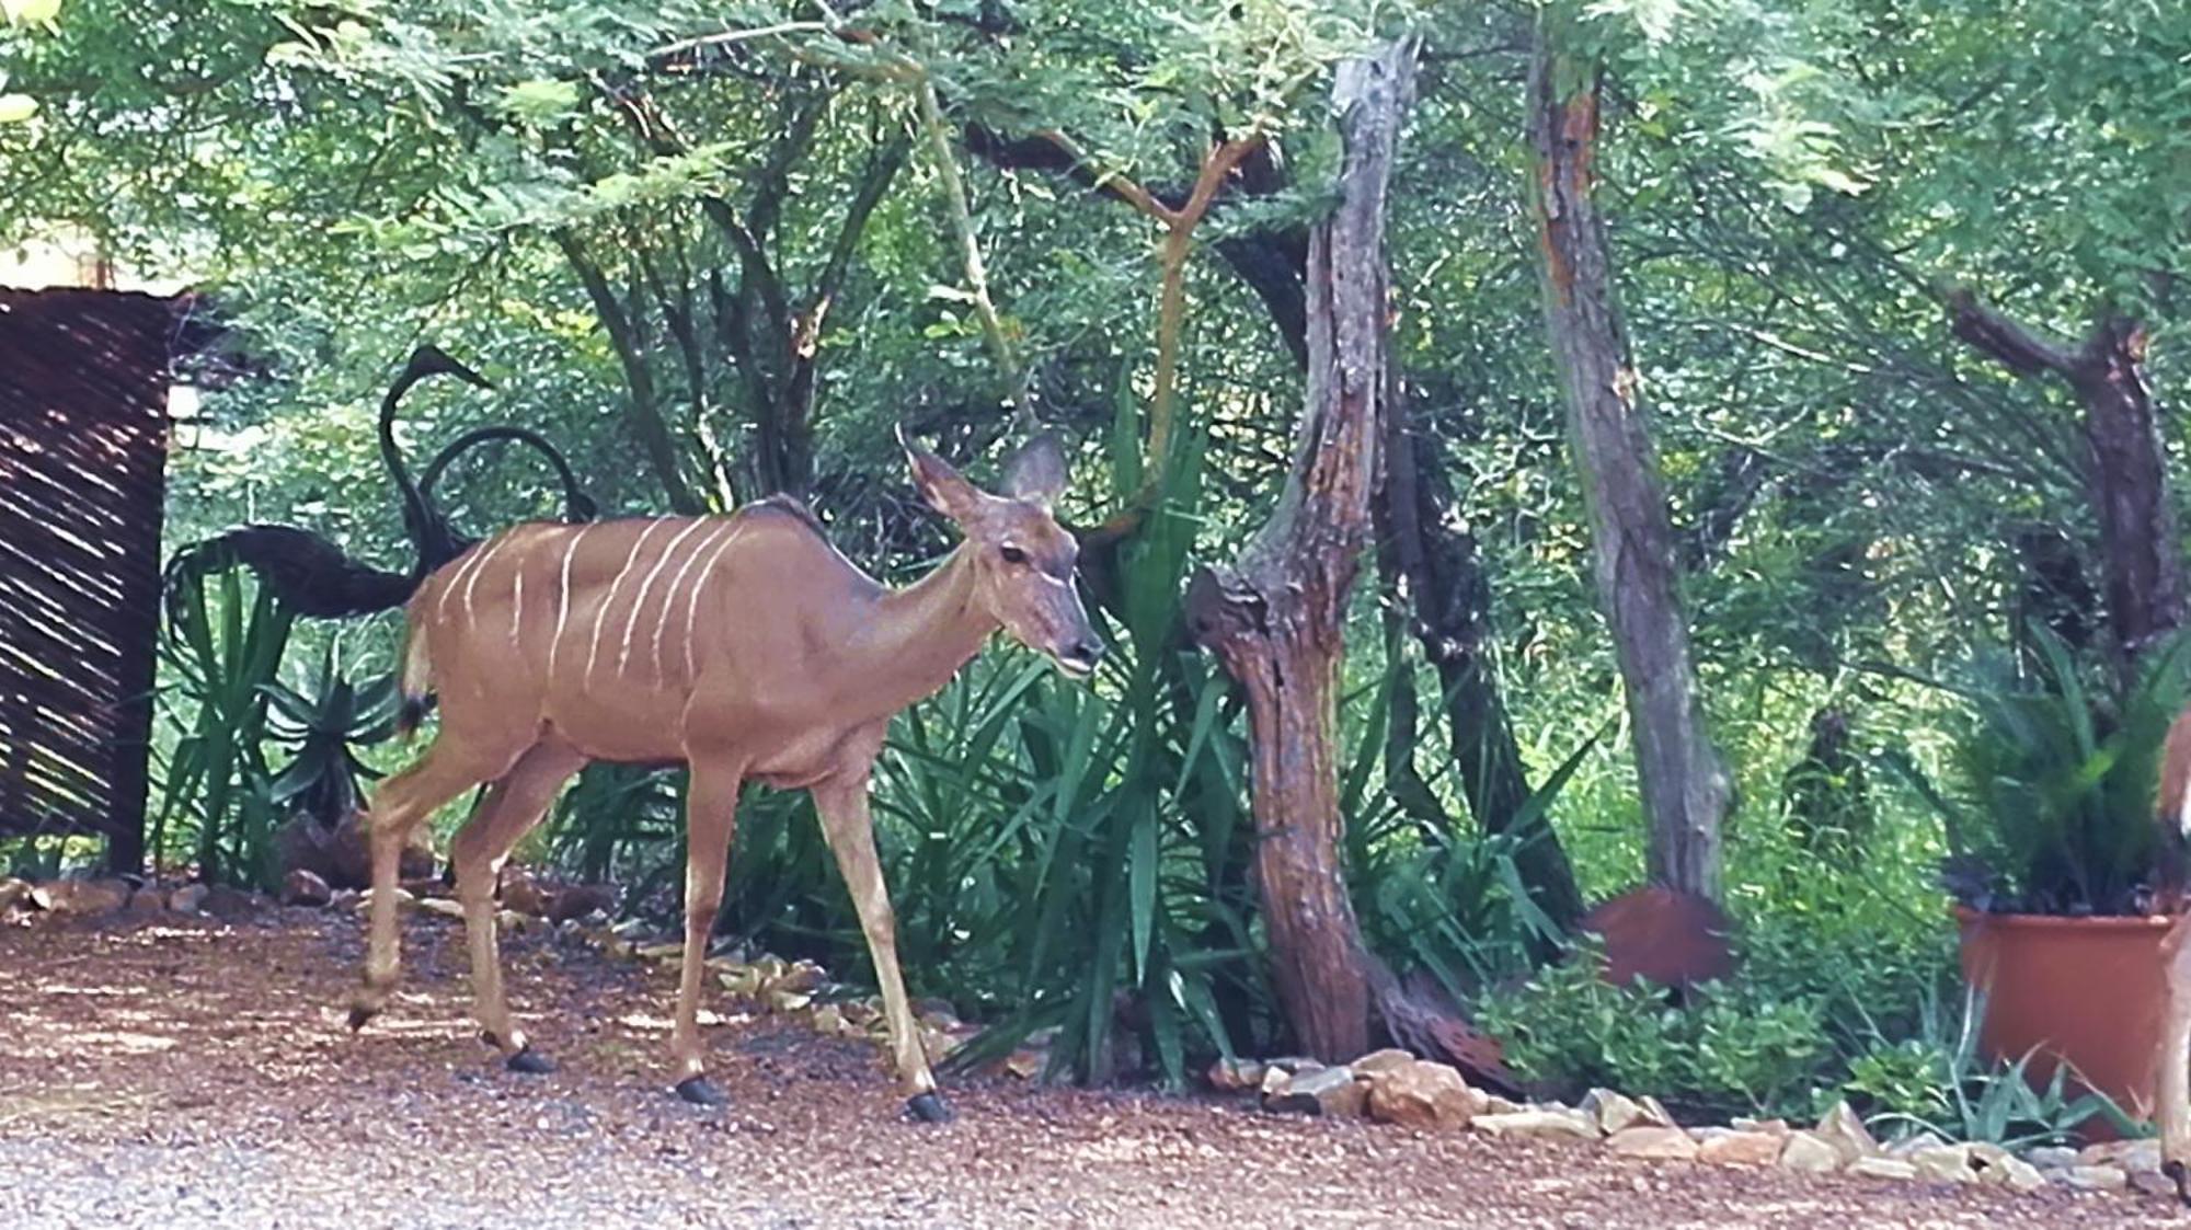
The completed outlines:
<svg viewBox="0 0 2191 1230">
<path fill-rule="evenodd" d="M 1255 882 L 1280 1007 L 1304 1051 L 1369 1046 L 1369 980 L 1341 867 L 1334 709 L 1347 591 L 1369 541 L 1387 355 L 1385 188 L 1415 44 L 1339 68 L 1339 206 L 1308 243 L 1308 405 L 1286 488 L 1231 567 L 1201 571 L 1188 624 L 1247 692 Z"/>
</svg>

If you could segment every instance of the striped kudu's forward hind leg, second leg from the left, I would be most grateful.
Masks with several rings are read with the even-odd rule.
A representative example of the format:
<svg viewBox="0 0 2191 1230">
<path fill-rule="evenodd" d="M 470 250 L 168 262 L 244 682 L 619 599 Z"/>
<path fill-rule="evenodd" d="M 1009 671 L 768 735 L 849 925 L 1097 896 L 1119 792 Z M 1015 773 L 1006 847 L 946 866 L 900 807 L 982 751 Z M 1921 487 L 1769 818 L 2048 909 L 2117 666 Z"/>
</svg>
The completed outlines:
<svg viewBox="0 0 2191 1230">
<path fill-rule="evenodd" d="M 489 788 L 486 801 L 449 845 L 456 895 L 464 904 L 464 939 L 471 943 L 473 1016 L 486 1042 L 504 1053 L 515 1072 L 554 1068 L 511 1024 L 511 1007 L 502 994 L 502 950 L 495 941 L 495 873 L 583 764 L 585 757 L 563 744 L 535 746 Z"/>
</svg>

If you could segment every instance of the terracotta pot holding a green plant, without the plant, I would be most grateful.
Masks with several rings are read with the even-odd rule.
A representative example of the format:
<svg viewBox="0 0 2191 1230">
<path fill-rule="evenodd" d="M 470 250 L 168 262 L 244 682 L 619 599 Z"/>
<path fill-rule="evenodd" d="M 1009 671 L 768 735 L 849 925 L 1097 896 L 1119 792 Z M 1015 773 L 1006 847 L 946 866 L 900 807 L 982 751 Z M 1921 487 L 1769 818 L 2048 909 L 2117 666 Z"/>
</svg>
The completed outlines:
<svg viewBox="0 0 2191 1230">
<path fill-rule="evenodd" d="M 2132 1118 L 2154 1116 L 2165 967 L 2160 937 L 2173 919 L 1983 915 L 1957 906 L 1963 978 L 1985 996 L 1978 1048 L 2018 1061 L 2046 1086 L 2068 1064 L 2064 1088 L 2097 1090 Z M 2090 1138 L 2112 1136 L 2088 1121 Z"/>
</svg>

